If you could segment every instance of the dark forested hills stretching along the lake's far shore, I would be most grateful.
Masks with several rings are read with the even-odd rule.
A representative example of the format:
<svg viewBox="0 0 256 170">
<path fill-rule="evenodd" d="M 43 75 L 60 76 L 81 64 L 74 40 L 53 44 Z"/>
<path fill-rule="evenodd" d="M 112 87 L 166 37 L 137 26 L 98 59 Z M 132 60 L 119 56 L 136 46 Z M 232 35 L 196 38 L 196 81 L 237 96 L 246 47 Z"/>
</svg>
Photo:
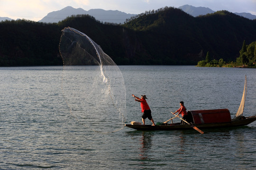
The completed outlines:
<svg viewBox="0 0 256 170">
<path fill-rule="evenodd" d="M 161 8 L 124 25 L 102 24 L 78 15 L 58 24 L 27 20 L 0 22 L 0 66 L 61 65 L 61 30 L 73 27 L 98 43 L 117 64 L 192 64 L 205 58 L 233 60 L 244 40 L 256 41 L 256 20 L 228 11 L 192 17 L 178 8 Z"/>
</svg>

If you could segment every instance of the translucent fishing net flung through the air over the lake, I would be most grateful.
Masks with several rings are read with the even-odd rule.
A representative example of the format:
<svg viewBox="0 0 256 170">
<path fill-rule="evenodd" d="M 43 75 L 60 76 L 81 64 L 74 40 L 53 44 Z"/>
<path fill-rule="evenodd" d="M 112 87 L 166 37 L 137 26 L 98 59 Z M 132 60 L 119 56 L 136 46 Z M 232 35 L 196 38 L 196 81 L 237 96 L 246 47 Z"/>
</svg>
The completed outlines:
<svg viewBox="0 0 256 170">
<path fill-rule="evenodd" d="M 115 132 L 126 119 L 126 92 L 115 62 L 86 34 L 62 30 L 62 91 L 70 113 L 96 132 Z"/>
</svg>

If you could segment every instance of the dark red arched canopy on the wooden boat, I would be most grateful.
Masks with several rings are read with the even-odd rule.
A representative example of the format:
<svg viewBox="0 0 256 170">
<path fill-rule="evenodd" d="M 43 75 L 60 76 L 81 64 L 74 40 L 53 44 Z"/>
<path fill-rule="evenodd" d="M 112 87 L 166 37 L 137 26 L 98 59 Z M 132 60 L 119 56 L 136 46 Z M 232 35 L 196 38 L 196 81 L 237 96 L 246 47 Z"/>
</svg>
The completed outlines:
<svg viewBox="0 0 256 170">
<path fill-rule="evenodd" d="M 194 124 L 222 123 L 231 121 L 228 109 L 191 110 L 190 112 L 192 113 Z"/>
</svg>

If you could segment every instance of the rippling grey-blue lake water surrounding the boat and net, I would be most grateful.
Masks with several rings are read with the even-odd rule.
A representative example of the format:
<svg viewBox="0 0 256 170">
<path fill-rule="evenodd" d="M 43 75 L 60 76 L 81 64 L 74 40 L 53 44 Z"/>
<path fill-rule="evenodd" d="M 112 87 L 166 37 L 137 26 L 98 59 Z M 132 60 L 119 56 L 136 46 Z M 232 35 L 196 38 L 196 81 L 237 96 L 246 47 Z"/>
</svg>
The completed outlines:
<svg viewBox="0 0 256 170">
<path fill-rule="evenodd" d="M 119 68 L 126 86 L 126 123 L 141 122 L 140 104 L 131 94 L 146 94 L 155 122 L 170 119 L 170 111 L 177 110 L 180 101 L 187 110 L 227 108 L 233 118 L 245 75 L 244 116 L 256 114 L 256 69 Z M 0 169 L 256 169 L 256 122 L 239 128 L 207 129 L 203 135 L 194 129 L 136 131 L 128 127 L 97 133 L 70 114 L 62 94 L 62 69 L 0 68 Z M 95 123 L 104 126 L 107 122 Z M 151 122 L 146 119 L 146 124 Z"/>
</svg>

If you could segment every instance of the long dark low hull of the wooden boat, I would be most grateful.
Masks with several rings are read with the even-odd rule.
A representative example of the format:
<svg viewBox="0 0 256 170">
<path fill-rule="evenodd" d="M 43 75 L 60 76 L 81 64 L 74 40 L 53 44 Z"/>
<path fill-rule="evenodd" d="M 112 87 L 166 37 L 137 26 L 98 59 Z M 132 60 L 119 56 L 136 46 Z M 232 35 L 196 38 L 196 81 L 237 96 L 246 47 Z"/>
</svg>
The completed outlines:
<svg viewBox="0 0 256 170">
<path fill-rule="evenodd" d="M 221 123 L 206 123 L 206 124 L 196 124 L 194 126 L 203 129 L 203 128 L 220 128 L 220 127 L 239 127 L 248 125 L 256 120 L 256 115 L 247 117 L 241 120 L 232 120 L 230 122 L 221 122 Z M 167 125 L 131 125 L 126 124 L 126 127 L 134 128 L 136 130 L 186 130 L 191 129 L 192 127 L 188 124 L 180 125 L 179 123 L 167 124 Z"/>
</svg>

